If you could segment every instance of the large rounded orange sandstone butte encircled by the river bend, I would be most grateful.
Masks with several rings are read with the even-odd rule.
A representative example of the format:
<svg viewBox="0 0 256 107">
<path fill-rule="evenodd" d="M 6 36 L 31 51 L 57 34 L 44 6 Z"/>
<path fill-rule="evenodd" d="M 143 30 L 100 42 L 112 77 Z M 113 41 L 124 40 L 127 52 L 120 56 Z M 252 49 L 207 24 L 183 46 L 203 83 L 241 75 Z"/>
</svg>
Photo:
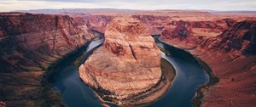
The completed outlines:
<svg viewBox="0 0 256 107">
<path fill-rule="evenodd" d="M 129 104 L 160 81 L 160 50 L 145 26 L 131 17 L 113 19 L 105 37 L 103 47 L 79 67 L 79 75 L 104 101 Z"/>
</svg>

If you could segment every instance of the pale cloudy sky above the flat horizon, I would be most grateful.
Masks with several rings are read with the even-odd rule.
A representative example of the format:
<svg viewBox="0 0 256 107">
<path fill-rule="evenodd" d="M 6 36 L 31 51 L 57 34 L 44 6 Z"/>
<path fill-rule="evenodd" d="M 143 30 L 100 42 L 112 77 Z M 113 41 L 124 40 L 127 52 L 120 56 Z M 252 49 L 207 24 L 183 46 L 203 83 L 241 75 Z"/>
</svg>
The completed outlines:
<svg viewBox="0 0 256 107">
<path fill-rule="evenodd" d="M 256 0 L 0 0 L 0 12 L 44 8 L 207 9 L 256 11 Z"/>
</svg>

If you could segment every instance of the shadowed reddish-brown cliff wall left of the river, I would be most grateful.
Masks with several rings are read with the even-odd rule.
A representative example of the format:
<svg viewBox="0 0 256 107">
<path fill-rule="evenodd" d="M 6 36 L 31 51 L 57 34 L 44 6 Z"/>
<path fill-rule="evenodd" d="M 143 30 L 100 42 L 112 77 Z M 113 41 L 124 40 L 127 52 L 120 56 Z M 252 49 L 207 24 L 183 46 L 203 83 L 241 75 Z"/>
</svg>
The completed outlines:
<svg viewBox="0 0 256 107">
<path fill-rule="evenodd" d="M 84 20 L 67 15 L 3 14 L 0 24 L 1 71 L 47 68 L 93 37 Z"/>
</svg>

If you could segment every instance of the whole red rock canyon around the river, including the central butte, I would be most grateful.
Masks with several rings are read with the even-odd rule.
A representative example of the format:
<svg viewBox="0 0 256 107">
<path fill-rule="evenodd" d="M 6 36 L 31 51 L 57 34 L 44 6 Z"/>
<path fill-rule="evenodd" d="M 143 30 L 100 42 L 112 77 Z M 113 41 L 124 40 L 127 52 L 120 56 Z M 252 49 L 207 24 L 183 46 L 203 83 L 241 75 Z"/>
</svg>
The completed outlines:
<svg viewBox="0 0 256 107">
<path fill-rule="evenodd" d="M 160 42 L 193 54 L 210 74 L 195 106 L 255 105 L 256 16 L 189 10 L 0 14 L 0 101 L 62 105 L 44 86 L 48 69 L 90 42 L 93 31 L 105 40 L 79 66 L 79 76 L 103 102 L 134 104 L 132 98 L 160 82 L 160 49 L 150 36 L 159 35 Z"/>
</svg>

